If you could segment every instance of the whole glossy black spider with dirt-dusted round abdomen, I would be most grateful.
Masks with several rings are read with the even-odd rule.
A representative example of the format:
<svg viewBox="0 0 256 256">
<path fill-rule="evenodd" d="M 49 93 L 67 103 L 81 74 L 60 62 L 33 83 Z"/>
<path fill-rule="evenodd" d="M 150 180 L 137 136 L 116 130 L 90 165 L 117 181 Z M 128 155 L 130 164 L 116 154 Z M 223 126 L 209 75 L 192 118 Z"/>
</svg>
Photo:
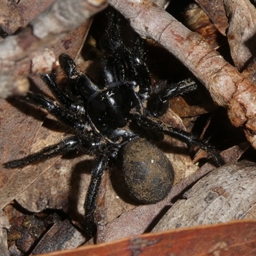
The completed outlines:
<svg viewBox="0 0 256 256">
<path fill-rule="evenodd" d="M 104 84 L 94 83 L 86 74 L 77 71 L 70 56 L 61 54 L 60 65 L 69 79 L 72 99 L 60 90 L 51 74 L 42 79 L 59 104 L 32 92 L 19 97 L 46 109 L 61 123 L 71 127 L 75 135 L 4 164 L 6 168 L 17 168 L 76 148 L 83 148 L 86 154 L 96 152 L 84 203 L 84 228 L 88 236 L 93 236 L 96 231 L 93 212 L 102 173 L 109 159 L 115 159 L 118 152 L 122 152 L 124 180 L 133 198 L 143 204 L 152 204 L 168 195 L 174 176 L 172 164 L 161 150 L 145 139 L 147 131 L 151 131 L 149 135 L 156 131 L 197 145 L 214 157 L 217 164 L 223 164 L 220 154 L 211 145 L 189 132 L 159 121 L 157 117 L 163 115 L 168 99 L 195 90 L 196 84 L 187 79 L 153 92 L 145 64 L 144 41 L 137 36 L 134 45 L 127 47 L 120 35 L 118 19 L 114 13 L 109 15 L 105 44 L 109 55 L 102 60 Z"/>
</svg>

